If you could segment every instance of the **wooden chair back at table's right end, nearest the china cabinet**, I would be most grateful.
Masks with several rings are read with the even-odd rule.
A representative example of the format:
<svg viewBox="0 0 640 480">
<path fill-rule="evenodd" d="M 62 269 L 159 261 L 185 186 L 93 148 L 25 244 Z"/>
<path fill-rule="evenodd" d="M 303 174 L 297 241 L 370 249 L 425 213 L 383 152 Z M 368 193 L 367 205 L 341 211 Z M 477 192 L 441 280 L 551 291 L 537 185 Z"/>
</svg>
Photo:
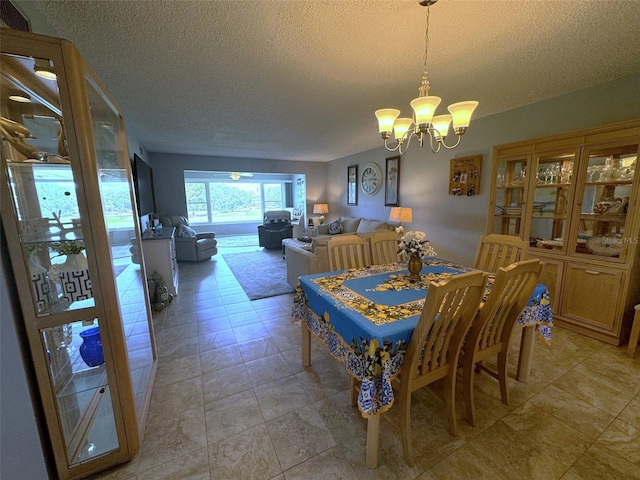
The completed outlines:
<svg viewBox="0 0 640 480">
<path fill-rule="evenodd" d="M 529 244 L 514 235 L 490 233 L 480 237 L 473 266 L 496 273 L 498 268 L 524 260 Z"/>
</svg>

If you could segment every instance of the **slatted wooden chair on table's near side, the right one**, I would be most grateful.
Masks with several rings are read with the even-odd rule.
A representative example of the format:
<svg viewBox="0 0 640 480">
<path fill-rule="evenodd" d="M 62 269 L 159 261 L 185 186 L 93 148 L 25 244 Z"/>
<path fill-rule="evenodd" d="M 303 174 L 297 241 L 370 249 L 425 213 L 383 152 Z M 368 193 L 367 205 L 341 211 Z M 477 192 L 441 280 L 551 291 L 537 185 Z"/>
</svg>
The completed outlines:
<svg viewBox="0 0 640 480">
<path fill-rule="evenodd" d="M 499 268 L 491 292 L 469 329 L 461 363 L 466 418 L 472 426 L 475 426 L 474 370 L 484 370 L 498 379 L 502 402 L 509 404 L 507 358 L 511 332 L 538 283 L 543 265 L 533 259 Z M 496 370 L 482 363 L 496 355 Z"/>
</svg>

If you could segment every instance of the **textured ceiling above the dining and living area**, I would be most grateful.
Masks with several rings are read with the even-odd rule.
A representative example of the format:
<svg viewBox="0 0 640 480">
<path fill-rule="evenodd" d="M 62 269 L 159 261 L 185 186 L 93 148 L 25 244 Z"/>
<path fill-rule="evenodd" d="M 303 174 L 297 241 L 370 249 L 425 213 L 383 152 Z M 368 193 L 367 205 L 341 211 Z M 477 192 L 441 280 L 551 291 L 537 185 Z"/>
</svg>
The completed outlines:
<svg viewBox="0 0 640 480">
<path fill-rule="evenodd" d="M 150 152 L 327 161 L 375 148 L 374 111 L 408 116 L 422 72 L 417 0 L 16 3 L 76 44 Z M 479 118 L 638 73 L 639 18 L 637 0 L 441 0 L 438 112 L 474 99 Z"/>
</svg>

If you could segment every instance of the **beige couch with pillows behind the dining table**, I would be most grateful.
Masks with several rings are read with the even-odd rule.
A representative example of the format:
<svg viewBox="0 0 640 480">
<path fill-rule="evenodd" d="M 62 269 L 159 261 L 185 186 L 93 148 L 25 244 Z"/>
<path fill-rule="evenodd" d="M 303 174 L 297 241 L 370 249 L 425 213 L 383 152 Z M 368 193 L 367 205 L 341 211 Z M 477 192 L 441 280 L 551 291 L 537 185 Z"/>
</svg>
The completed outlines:
<svg viewBox="0 0 640 480">
<path fill-rule="evenodd" d="M 393 230 L 393 225 L 379 220 L 365 218 L 340 218 L 342 233 L 335 235 L 356 234 L 365 239 L 376 232 Z M 285 247 L 287 261 L 287 282 L 293 288 L 298 284 L 298 277 L 311 273 L 329 271 L 329 257 L 327 255 L 327 242 L 335 235 L 329 234 L 328 225 L 318 226 L 318 235 L 311 242 L 311 249 L 305 250 L 295 245 Z"/>
</svg>

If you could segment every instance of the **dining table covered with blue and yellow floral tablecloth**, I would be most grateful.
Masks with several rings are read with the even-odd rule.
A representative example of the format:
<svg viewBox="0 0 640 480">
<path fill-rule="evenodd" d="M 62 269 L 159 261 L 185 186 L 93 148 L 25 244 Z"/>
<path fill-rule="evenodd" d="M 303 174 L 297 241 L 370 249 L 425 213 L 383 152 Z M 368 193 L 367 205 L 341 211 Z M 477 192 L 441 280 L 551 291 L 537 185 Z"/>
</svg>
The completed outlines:
<svg viewBox="0 0 640 480">
<path fill-rule="evenodd" d="M 420 279 L 411 279 L 406 262 L 303 275 L 292 307 L 300 321 L 302 364 L 311 366 L 311 334 L 360 381 L 357 404 L 367 418 L 367 466 L 378 457 L 380 416 L 394 402 L 393 379 L 400 373 L 406 348 L 416 327 L 431 281 L 477 270 L 437 257 L 422 260 Z M 495 274 L 488 274 L 483 300 Z M 553 317 L 549 291 L 538 284 L 516 322 L 522 327 L 517 379 L 531 369 L 536 332 L 551 340 Z"/>
</svg>

